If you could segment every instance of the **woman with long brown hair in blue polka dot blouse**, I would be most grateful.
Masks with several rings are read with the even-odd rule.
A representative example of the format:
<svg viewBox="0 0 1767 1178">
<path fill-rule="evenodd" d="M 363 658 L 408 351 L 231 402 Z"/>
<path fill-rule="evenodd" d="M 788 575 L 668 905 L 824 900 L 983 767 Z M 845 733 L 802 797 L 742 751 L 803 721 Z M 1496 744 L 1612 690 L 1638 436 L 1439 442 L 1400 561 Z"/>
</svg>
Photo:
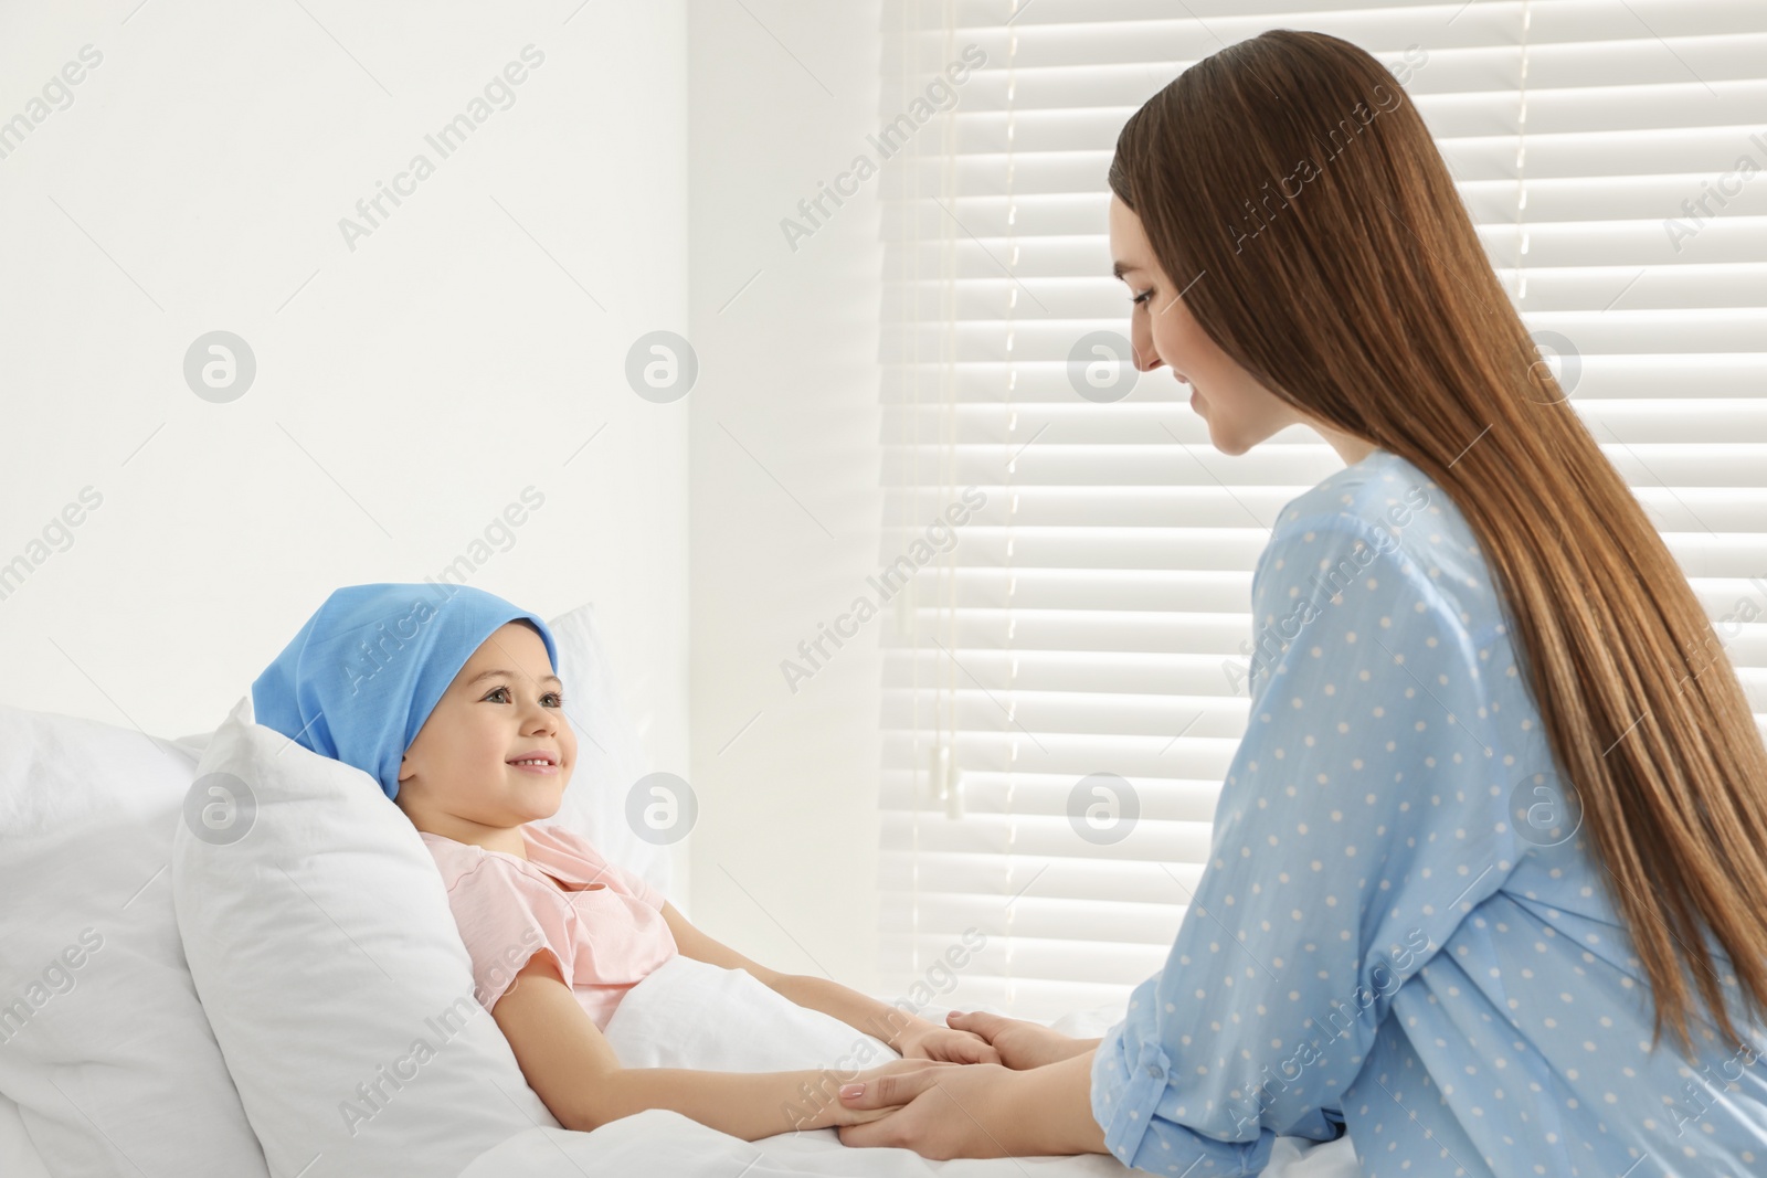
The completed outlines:
<svg viewBox="0 0 1767 1178">
<path fill-rule="evenodd" d="M 1124 127 L 1143 371 L 1345 470 L 1253 578 L 1251 715 L 1161 973 L 1096 1042 L 850 1084 L 850 1144 L 1249 1174 L 1767 1173 L 1767 749 L 1375 58 L 1274 30 Z M 1661 1044 L 1668 1028 L 1670 1044 Z"/>
</svg>

